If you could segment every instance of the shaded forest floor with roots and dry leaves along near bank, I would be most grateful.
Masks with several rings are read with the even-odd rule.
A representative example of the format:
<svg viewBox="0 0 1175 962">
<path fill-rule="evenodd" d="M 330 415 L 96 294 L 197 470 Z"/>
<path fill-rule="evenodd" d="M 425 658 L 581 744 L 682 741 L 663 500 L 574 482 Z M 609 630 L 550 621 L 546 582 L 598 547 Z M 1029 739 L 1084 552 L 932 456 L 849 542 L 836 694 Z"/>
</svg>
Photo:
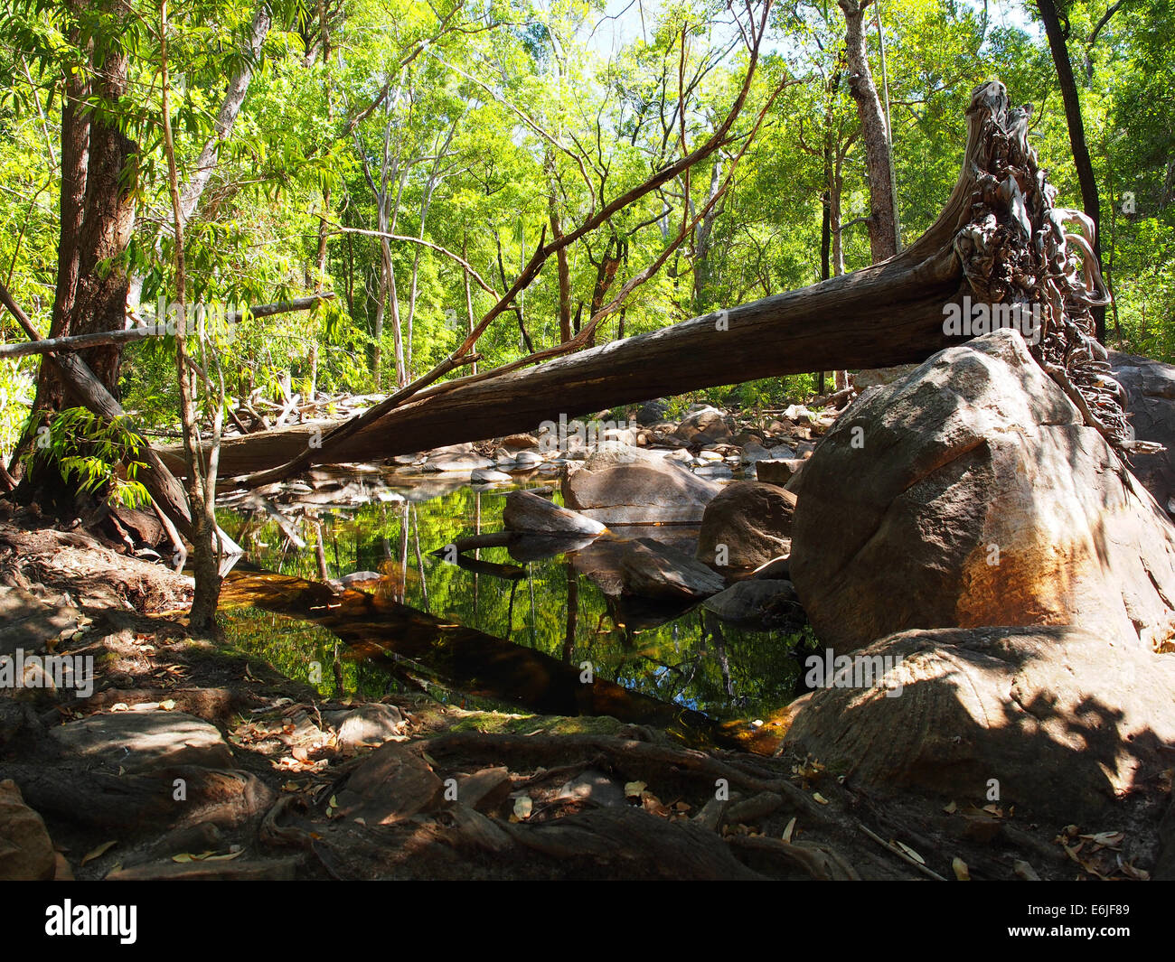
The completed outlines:
<svg viewBox="0 0 1175 962">
<path fill-rule="evenodd" d="M 190 580 L 116 547 L 0 502 L 2 651 L 93 658 L 87 698 L 0 692 L 0 780 L 43 818 L 59 877 L 1122 877 L 1110 833 L 882 801 L 814 759 L 323 699 L 193 635 Z"/>
</svg>

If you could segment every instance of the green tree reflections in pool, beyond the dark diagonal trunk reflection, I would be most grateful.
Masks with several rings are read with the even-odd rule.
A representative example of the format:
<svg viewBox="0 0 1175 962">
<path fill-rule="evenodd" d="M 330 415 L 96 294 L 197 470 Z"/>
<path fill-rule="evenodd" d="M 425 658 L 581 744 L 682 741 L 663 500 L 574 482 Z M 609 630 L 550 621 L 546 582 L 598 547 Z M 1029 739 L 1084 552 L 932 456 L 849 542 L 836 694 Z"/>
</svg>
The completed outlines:
<svg viewBox="0 0 1175 962">
<path fill-rule="evenodd" d="M 471 551 L 469 558 L 477 564 L 469 571 L 431 553 L 458 538 L 501 530 L 503 506 L 503 496 L 469 487 L 418 503 L 320 506 L 316 517 L 304 519 L 303 551 L 283 545 L 273 522 L 222 512 L 221 523 L 234 537 L 246 527 L 257 530 L 268 547 L 254 551 L 250 560 L 263 567 L 310 580 L 322 580 L 324 569 L 329 578 L 376 571 L 380 581 L 364 587 L 382 597 L 568 665 L 591 661 L 599 677 L 662 700 L 716 715 L 743 715 L 766 714 L 792 699 L 798 680 L 791 655 L 794 635 L 739 628 L 703 608 L 660 623 L 644 613 L 633 617 L 562 557 L 528 561 L 522 577 L 503 578 L 489 572 L 508 565 L 519 571 L 505 547 Z M 296 668 L 307 661 L 308 643 L 300 632 L 287 627 L 264 644 L 267 651 L 288 650 L 269 659 L 275 664 L 284 658 Z M 333 647 L 331 641 L 323 665 L 335 664 Z M 344 668 L 350 686 L 357 673 L 345 660 Z M 304 673 L 304 667 L 301 675 L 291 672 Z"/>
</svg>

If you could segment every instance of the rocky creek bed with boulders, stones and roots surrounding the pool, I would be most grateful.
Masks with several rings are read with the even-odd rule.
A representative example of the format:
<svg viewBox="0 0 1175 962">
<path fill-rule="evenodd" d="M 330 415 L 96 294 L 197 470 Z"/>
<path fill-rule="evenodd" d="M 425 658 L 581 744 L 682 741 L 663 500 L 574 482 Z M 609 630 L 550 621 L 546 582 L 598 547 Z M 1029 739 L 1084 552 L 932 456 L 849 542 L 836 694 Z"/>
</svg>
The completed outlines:
<svg viewBox="0 0 1175 962">
<path fill-rule="evenodd" d="M 1170 425 L 1154 390 L 1169 375 L 1148 364 L 1150 423 Z M 847 410 L 791 413 L 756 432 L 653 409 L 620 449 L 532 460 L 537 439 L 516 436 L 389 469 L 459 464 L 492 486 L 506 482 L 474 472 L 512 484 L 528 462 L 563 505 L 506 496 L 485 534 L 515 561 L 575 536 L 618 603 L 810 621 L 830 684 L 706 736 L 609 714 L 624 689 L 604 679 L 591 714 L 462 707 L 427 686 L 328 697 L 193 637 L 188 579 L 133 557 L 149 519 L 87 531 L 0 502 L 2 653 L 94 665 L 87 698 L 38 684 L 27 658 L 0 692 L 0 876 L 1170 877 L 1162 465 L 1148 490 L 1007 332 Z M 757 457 L 773 449 L 791 457 Z M 307 506 L 396 500 L 385 473 L 246 497 L 281 527 Z M 616 537 L 634 522 L 652 537 Z M 698 534 L 674 546 L 665 523 Z M 483 546 L 451 545 L 475 561 Z M 362 578 L 329 580 L 297 586 L 307 617 L 397 611 Z M 461 627 L 403 633 L 422 625 Z M 861 659 L 880 666 L 871 684 L 853 679 Z"/>
</svg>

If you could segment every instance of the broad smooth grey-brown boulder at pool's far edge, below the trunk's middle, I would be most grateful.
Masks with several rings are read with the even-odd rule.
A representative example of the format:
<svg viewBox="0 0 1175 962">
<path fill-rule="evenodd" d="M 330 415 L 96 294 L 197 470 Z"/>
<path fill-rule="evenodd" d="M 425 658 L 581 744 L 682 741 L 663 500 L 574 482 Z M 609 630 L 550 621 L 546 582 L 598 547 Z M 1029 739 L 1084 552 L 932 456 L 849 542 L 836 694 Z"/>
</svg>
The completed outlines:
<svg viewBox="0 0 1175 962">
<path fill-rule="evenodd" d="M 617 446 L 568 466 L 563 503 L 606 525 L 697 524 L 719 485 L 672 460 Z"/>
</svg>

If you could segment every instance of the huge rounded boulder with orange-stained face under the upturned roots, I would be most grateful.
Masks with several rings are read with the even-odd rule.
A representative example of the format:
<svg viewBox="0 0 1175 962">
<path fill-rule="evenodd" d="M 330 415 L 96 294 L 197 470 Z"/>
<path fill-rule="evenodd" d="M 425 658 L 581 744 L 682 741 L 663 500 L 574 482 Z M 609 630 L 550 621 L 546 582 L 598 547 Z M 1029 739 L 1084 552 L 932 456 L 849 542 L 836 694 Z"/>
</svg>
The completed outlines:
<svg viewBox="0 0 1175 962">
<path fill-rule="evenodd" d="M 1015 331 L 862 395 L 792 490 L 792 580 L 839 651 L 918 627 L 1175 634 L 1175 527 Z"/>
</svg>

